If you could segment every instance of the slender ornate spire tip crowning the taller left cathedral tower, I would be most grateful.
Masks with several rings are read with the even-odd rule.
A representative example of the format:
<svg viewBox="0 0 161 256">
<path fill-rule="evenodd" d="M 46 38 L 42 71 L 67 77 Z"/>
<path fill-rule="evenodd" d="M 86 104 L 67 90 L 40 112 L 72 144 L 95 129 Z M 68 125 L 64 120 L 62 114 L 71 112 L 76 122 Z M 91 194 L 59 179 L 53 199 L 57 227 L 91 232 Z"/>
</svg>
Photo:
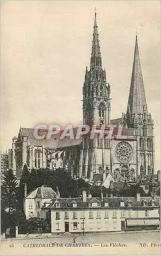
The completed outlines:
<svg viewBox="0 0 161 256">
<path fill-rule="evenodd" d="M 100 44 L 99 44 L 99 34 L 97 26 L 97 14 L 95 12 L 95 22 L 94 22 L 94 33 L 93 33 L 93 45 L 91 51 L 90 59 L 90 69 L 102 68 L 102 59 L 100 53 Z"/>
</svg>

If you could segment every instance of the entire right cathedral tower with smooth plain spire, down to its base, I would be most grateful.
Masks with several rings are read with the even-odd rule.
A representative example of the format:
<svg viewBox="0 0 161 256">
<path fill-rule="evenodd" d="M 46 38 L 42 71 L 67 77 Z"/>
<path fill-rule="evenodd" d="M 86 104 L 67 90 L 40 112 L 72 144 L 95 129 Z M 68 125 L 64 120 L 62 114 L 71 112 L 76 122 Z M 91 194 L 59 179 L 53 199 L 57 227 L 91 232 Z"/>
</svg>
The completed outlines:
<svg viewBox="0 0 161 256">
<path fill-rule="evenodd" d="M 153 120 L 148 114 L 145 97 L 137 35 L 131 75 L 130 92 L 126 113 L 127 126 L 135 129 L 137 139 L 137 176 L 143 178 L 154 172 Z"/>
</svg>

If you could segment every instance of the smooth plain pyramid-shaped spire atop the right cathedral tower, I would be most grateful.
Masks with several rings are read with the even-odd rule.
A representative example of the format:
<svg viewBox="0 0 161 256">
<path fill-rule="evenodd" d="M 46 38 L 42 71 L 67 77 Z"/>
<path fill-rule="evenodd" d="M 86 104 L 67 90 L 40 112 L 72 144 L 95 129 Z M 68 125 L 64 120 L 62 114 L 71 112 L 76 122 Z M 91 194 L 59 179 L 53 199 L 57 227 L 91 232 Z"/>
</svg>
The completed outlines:
<svg viewBox="0 0 161 256">
<path fill-rule="evenodd" d="M 139 57 L 139 47 L 136 35 L 130 93 L 127 106 L 127 122 L 129 124 L 132 124 L 139 116 L 141 117 L 141 115 L 143 114 L 147 115 L 148 109 L 144 91 L 141 62 Z"/>
</svg>

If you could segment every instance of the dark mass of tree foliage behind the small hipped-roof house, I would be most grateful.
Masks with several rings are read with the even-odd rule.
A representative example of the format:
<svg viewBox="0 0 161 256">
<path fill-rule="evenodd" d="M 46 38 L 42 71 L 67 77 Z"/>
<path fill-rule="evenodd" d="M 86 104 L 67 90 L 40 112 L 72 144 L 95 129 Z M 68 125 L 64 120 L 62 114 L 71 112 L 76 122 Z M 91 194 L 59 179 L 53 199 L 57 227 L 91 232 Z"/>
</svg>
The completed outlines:
<svg viewBox="0 0 161 256">
<path fill-rule="evenodd" d="M 45 185 L 56 191 L 57 186 L 61 197 L 79 197 L 82 190 L 88 190 L 90 185 L 83 179 L 75 180 L 66 170 L 59 168 L 51 170 L 49 168 L 32 169 L 31 172 L 24 170 L 20 179 L 20 191 L 24 198 L 24 186 L 27 184 L 29 194 L 36 187 Z M 22 199 L 21 199 L 22 200 Z"/>
</svg>

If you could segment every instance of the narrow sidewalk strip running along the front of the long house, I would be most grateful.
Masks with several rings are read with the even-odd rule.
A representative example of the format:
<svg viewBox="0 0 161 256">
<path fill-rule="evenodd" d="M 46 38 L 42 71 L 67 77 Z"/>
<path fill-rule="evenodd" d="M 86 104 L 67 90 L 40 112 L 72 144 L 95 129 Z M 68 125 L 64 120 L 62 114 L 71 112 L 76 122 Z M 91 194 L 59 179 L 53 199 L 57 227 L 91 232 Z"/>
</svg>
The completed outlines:
<svg viewBox="0 0 161 256">
<path fill-rule="evenodd" d="M 26 236 L 23 238 L 1 238 L 1 241 L 9 240 L 28 240 L 28 239 L 45 239 L 45 238 L 65 238 L 65 237 L 88 237 L 88 236 L 101 236 L 105 234 L 123 234 L 123 233 L 149 233 L 149 232 L 160 232 L 160 229 L 155 230 L 135 230 L 135 231 L 108 231 L 108 232 L 87 232 L 83 234 L 68 233 L 68 234 L 35 234 L 35 236 Z"/>
</svg>

